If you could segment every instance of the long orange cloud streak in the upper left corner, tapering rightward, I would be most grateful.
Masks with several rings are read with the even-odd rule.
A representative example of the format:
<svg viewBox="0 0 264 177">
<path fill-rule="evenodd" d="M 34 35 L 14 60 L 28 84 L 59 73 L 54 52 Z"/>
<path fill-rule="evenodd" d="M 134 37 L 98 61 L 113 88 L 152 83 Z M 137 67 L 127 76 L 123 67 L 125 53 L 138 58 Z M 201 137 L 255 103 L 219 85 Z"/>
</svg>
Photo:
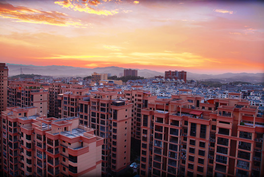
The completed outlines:
<svg viewBox="0 0 264 177">
<path fill-rule="evenodd" d="M 13 6 L 0 2 L 0 18 L 16 19 L 16 22 L 46 24 L 55 26 L 85 27 L 78 21 L 69 20 L 65 13 L 56 11 L 40 11 L 23 6 Z"/>
</svg>

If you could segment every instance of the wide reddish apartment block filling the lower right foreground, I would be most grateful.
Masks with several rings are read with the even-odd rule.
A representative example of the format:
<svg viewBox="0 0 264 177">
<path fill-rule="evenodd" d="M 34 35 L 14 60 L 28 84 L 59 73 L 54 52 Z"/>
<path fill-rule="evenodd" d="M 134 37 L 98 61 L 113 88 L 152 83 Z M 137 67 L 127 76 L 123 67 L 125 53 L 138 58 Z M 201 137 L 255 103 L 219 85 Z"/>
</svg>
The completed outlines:
<svg viewBox="0 0 264 177">
<path fill-rule="evenodd" d="M 188 92 L 141 110 L 140 176 L 263 176 L 258 107 L 236 93 L 206 102 Z"/>
</svg>

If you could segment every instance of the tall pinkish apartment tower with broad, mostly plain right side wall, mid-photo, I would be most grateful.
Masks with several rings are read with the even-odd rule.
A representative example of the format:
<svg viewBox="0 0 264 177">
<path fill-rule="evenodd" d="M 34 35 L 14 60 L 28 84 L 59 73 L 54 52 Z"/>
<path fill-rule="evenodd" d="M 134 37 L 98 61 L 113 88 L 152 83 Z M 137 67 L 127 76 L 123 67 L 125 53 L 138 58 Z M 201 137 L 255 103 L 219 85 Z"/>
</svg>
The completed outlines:
<svg viewBox="0 0 264 177">
<path fill-rule="evenodd" d="M 90 97 L 90 127 L 104 138 L 102 174 L 117 176 L 130 165 L 132 104 L 120 99 L 115 89 L 104 90 Z"/>
</svg>

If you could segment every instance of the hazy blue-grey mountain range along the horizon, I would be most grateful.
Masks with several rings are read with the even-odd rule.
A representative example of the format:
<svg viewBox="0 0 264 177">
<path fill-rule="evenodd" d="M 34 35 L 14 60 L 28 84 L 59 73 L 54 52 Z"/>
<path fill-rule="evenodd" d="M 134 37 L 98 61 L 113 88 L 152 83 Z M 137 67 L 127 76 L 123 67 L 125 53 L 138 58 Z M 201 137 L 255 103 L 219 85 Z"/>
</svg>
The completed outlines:
<svg viewBox="0 0 264 177">
<path fill-rule="evenodd" d="M 72 66 L 34 66 L 34 65 L 21 65 L 21 64 L 6 64 L 9 72 L 9 76 L 19 75 L 21 68 L 24 74 L 40 74 L 46 76 L 91 76 L 93 72 L 97 73 L 110 73 L 112 76 L 119 73 L 123 73 L 125 68 L 109 66 L 109 67 L 97 67 L 97 68 L 81 68 Z M 145 78 L 151 78 L 154 76 L 164 76 L 164 73 L 152 71 L 149 69 L 137 69 L 137 75 Z M 264 73 L 224 73 L 224 74 L 196 74 L 187 72 L 187 80 L 206 80 L 206 81 L 218 81 L 218 82 L 250 82 L 250 83 L 264 83 Z"/>
</svg>

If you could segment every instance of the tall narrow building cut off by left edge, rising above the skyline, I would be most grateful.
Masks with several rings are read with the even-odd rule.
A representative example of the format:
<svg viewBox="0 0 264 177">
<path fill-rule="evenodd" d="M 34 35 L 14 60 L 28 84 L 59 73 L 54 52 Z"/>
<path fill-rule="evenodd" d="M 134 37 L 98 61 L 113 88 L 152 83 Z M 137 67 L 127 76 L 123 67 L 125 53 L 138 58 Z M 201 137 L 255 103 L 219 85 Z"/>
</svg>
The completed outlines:
<svg viewBox="0 0 264 177">
<path fill-rule="evenodd" d="M 0 112 L 7 107 L 7 77 L 8 67 L 0 63 Z"/>
</svg>

